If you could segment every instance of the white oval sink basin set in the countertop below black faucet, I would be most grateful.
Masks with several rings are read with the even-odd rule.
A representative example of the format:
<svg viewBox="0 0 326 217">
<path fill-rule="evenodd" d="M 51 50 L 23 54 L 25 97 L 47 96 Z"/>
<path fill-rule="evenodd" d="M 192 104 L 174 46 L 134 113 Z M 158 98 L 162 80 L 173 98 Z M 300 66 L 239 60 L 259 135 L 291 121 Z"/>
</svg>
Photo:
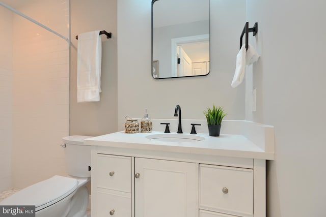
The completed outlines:
<svg viewBox="0 0 326 217">
<path fill-rule="evenodd" d="M 204 137 L 192 134 L 154 134 L 146 136 L 147 139 L 163 142 L 197 142 L 205 140 Z"/>
</svg>

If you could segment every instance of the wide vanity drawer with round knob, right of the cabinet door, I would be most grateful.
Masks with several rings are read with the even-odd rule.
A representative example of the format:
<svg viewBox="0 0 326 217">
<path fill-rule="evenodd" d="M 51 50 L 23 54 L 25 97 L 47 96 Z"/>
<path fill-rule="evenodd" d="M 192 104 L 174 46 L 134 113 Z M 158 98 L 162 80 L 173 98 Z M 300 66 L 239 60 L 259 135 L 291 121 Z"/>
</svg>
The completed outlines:
<svg viewBox="0 0 326 217">
<path fill-rule="evenodd" d="M 199 208 L 253 216 L 253 170 L 200 165 Z"/>
</svg>

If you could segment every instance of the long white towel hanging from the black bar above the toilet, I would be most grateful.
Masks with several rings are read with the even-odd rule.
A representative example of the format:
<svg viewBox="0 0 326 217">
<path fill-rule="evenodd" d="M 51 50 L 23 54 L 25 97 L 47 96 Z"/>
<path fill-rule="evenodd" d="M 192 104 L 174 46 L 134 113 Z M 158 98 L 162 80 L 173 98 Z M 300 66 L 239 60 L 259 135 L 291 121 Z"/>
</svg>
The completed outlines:
<svg viewBox="0 0 326 217">
<path fill-rule="evenodd" d="M 100 101 L 102 42 L 99 30 L 78 35 L 77 102 Z"/>
</svg>

